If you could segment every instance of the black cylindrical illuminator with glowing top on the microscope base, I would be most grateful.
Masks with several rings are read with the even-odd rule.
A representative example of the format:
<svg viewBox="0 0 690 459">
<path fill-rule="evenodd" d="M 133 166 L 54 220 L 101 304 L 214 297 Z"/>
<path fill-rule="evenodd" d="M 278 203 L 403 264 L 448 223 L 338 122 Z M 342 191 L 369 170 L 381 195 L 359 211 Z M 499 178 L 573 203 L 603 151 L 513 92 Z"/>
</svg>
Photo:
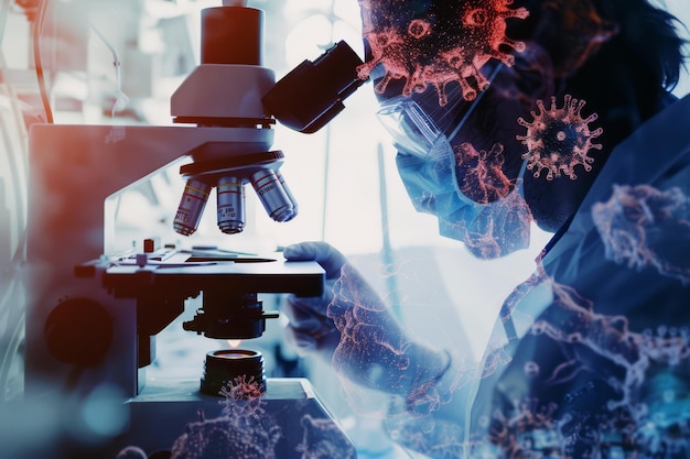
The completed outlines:
<svg viewBox="0 0 690 459">
<path fill-rule="evenodd" d="M 257 384 L 265 392 L 266 374 L 261 352 L 245 349 L 208 352 L 201 391 L 208 395 L 219 395 L 220 390 L 228 384 Z M 237 392 L 241 395 L 242 391 Z"/>
</svg>

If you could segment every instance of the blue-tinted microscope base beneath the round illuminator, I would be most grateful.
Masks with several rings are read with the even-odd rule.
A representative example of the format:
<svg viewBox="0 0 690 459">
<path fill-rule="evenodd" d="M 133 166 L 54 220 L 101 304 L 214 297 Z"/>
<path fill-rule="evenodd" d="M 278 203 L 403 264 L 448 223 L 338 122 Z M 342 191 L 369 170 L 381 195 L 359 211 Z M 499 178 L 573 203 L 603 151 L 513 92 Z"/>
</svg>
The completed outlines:
<svg viewBox="0 0 690 459">
<path fill-rule="evenodd" d="M 260 398 L 239 402 L 202 394 L 198 380 L 155 384 L 127 402 L 130 427 L 107 457 L 138 447 L 177 459 L 356 458 L 305 379 L 268 379 Z"/>
</svg>

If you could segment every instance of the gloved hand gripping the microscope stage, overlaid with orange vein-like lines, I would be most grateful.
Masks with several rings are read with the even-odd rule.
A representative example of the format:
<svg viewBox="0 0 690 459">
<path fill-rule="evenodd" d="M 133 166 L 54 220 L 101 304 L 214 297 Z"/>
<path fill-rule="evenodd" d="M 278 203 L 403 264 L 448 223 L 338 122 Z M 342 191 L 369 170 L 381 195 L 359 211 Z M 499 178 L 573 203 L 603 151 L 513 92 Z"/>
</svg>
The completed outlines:
<svg viewBox="0 0 690 459">
<path fill-rule="evenodd" d="M 289 341 L 331 359 L 341 376 L 418 405 L 416 397 L 425 397 L 449 368 L 448 354 L 408 336 L 385 302 L 331 245 L 304 242 L 283 253 L 292 261 L 316 261 L 327 283 L 321 297 L 288 298 Z"/>
</svg>

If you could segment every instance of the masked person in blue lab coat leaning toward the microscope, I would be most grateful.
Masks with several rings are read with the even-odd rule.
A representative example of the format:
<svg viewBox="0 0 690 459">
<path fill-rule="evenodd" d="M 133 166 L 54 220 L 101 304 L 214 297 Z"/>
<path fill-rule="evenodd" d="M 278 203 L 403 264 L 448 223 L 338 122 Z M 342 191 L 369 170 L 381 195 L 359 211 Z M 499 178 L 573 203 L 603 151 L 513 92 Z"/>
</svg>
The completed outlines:
<svg viewBox="0 0 690 459">
<path fill-rule="evenodd" d="M 332 287 L 287 300 L 290 340 L 389 394 L 391 435 L 431 457 L 690 457 L 680 24 L 647 0 L 359 7 L 359 75 L 416 208 L 483 259 L 525 248 L 532 221 L 554 237 L 481 362 L 412 340 L 323 242 L 284 251 Z"/>
</svg>

